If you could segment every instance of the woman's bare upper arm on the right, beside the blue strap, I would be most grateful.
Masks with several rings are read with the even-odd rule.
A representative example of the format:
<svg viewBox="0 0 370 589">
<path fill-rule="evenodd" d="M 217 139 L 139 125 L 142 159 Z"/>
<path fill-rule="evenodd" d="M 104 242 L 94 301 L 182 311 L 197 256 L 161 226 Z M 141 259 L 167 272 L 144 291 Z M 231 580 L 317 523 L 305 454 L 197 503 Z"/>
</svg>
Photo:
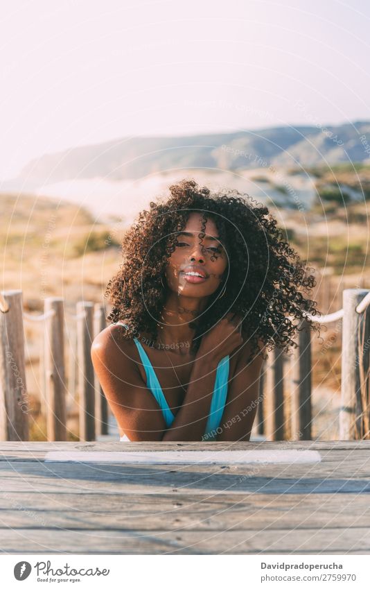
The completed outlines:
<svg viewBox="0 0 370 589">
<path fill-rule="evenodd" d="M 234 378 L 229 383 L 218 442 L 249 441 L 258 402 L 261 402 L 258 394 L 265 348 L 262 344 L 259 347 L 261 351 L 248 363 L 249 344 L 245 344 L 239 352 Z"/>
</svg>

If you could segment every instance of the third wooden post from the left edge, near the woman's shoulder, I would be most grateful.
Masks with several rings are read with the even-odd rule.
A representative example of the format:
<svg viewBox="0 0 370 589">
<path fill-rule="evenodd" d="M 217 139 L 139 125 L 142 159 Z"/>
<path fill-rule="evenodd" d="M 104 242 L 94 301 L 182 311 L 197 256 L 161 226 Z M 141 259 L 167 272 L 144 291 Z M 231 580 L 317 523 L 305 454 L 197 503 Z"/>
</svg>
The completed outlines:
<svg viewBox="0 0 370 589">
<path fill-rule="evenodd" d="M 80 440 L 95 440 L 94 367 L 91 360 L 94 303 L 77 303 L 78 392 L 80 403 Z"/>
</svg>

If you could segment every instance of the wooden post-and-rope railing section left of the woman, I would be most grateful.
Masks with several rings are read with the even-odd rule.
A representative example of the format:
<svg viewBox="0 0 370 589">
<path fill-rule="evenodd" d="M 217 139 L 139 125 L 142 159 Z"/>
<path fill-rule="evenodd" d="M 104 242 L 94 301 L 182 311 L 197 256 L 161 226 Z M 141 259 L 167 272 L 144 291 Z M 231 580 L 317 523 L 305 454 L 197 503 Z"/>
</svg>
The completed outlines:
<svg viewBox="0 0 370 589">
<path fill-rule="evenodd" d="M 0 298 L 0 440 L 28 440 L 29 399 L 24 361 L 24 320 L 44 324 L 41 404 L 49 441 L 67 440 L 67 383 L 64 363 L 64 305 L 61 298 L 46 298 L 39 316 L 22 310 L 21 291 L 5 291 Z M 94 374 L 91 343 L 105 327 L 105 309 L 93 302 L 78 302 L 76 339 L 70 354 L 71 407 L 78 407 L 80 440 L 94 441 L 107 434 L 107 401 Z M 78 395 L 74 385 L 78 380 Z"/>
</svg>

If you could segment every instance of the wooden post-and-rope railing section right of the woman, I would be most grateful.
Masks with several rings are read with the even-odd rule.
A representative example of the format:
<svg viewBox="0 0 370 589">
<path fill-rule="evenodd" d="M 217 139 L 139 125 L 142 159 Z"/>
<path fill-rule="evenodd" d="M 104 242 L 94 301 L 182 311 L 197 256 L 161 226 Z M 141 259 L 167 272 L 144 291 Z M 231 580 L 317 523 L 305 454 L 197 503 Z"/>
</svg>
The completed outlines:
<svg viewBox="0 0 370 589">
<path fill-rule="evenodd" d="M 342 321 L 340 440 L 370 439 L 370 291 L 345 289 L 339 311 L 312 318 L 327 324 Z M 288 356 L 270 352 L 260 379 L 258 433 L 267 440 L 312 439 L 312 352 L 307 321 L 299 326 L 298 347 Z M 290 436 L 284 388 L 290 386 Z"/>
</svg>

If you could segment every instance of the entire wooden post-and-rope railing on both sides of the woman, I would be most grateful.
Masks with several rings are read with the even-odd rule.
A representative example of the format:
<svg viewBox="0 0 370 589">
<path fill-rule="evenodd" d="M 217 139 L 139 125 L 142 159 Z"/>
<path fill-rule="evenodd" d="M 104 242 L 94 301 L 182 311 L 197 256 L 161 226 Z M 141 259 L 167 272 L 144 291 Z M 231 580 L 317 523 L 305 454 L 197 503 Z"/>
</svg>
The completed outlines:
<svg viewBox="0 0 370 589">
<path fill-rule="evenodd" d="M 340 439 L 369 439 L 369 349 L 370 291 L 345 289 L 342 309 L 314 321 L 342 320 L 342 406 Z M 61 298 L 46 298 L 39 316 L 23 311 L 21 291 L 3 291 L 0 296 L 0 440 L 28 440 L 29 400 L 24 355 L 24 320 L 44 324 L 44 391 L 42 410 L 49 441 L 67 439 L 67 385 L 64 365 L 64 304 Z M 70 395 L 76 397 L 74 370 L 78 373 L 79 436 L 94 441 L 107 434 L 107 402 L 94 374 L 91 343 L 105 327 L 103 305 L 81 301 L 76 306 L 76 339 L 70 350 Z M 276 349 L 269 352 L 260 379 L 256 431 L 267 440 L 312 438 L 312 352 L 310 328 L 299 326 L 298 348 L 290 356 Z M 76 354 L 76 362 L 73 355 Z M 284 387 L 290 386 L 290 407 Z M 289 420 L 287 418 L 289 413 Z M 289 425 L 289 427 L 288 427 Z"/>
</svg>

